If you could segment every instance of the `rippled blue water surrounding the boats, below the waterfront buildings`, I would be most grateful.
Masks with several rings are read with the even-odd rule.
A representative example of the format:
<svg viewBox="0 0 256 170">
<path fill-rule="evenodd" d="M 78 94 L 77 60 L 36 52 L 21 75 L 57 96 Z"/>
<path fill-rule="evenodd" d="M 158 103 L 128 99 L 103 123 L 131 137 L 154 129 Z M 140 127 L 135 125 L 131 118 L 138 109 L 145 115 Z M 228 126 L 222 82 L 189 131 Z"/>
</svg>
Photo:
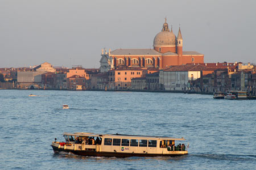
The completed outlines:
<svg viewBox="0 0 256 170">
<path fill-rule="evenodd" d="M 0 90 L 0 169 L 255 169 L 255 122 L 256 100 Z M 63 132 L 77 131 L 184 137 L 189 155 L 119 159 L 53 154 L 55 137 L 64 141 Z"/>
</svg>

